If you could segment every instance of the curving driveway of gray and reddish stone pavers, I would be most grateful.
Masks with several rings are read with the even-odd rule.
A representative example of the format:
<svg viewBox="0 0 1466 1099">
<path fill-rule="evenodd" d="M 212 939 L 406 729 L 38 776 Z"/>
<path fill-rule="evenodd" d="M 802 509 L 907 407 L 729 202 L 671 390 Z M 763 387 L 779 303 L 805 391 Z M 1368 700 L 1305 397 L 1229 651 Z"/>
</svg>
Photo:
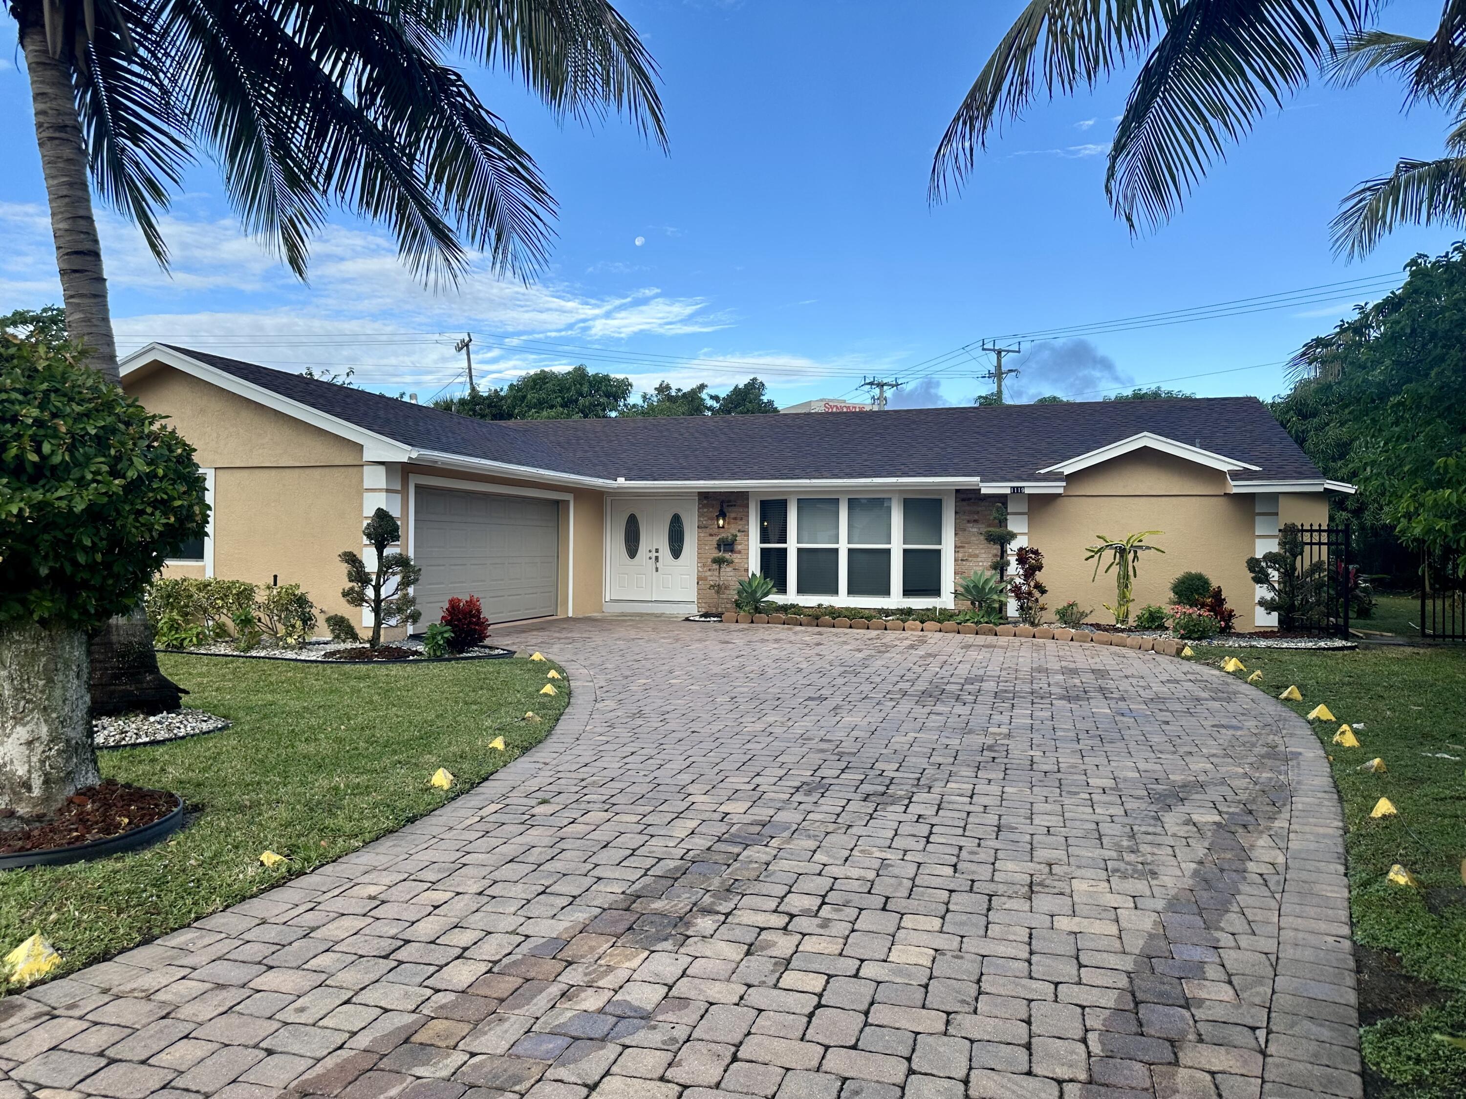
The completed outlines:
<svg viewBox="0 0 1466 1099">
<path fill-rule="evenodd" d="M 1001 637 L 498 637 L 570 671 L 545 744 L 0 1002 L 0 1096 L 1360 1095 L 1338 804 L 1259 692 Z"/>
</svg>

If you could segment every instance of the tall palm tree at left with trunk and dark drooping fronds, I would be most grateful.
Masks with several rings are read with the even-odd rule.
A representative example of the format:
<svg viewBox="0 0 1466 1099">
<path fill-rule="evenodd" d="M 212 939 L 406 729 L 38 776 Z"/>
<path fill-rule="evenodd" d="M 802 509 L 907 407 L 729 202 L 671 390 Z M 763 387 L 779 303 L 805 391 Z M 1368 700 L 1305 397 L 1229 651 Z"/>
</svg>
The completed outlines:
<svg viewBox="0 0 1466 1099">
<path fill-rule="evenodd" d="M 515 72 L 557 116 L 629 117 L 666 147 L 655 66 L 608 0 L 9 0 L 19 25 L 62 300 L 117 380 L 91 186 L 167 264 L 158 215 L 202 152 L 245 227 L 303 277 L 333 208 L 390 227 L 428 283 L 475 251 L 531 275 L 554 199 L 444 59 Z M 170 709 L 141 611 L 92 646 L 98 712 Z"/>
</svg>

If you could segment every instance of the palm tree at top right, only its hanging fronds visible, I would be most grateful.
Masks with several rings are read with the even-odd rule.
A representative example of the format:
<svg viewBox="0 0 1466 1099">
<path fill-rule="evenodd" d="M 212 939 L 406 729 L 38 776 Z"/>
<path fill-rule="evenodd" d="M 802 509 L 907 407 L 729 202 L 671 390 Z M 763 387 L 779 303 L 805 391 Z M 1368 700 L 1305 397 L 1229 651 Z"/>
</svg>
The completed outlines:
<svg viewBox="0 0 1466 1099">
<path fill-rule="evenodd" d="M 1136 62 L 1105 173 L 1105 195 L 1132 232 L 1176 214 L 1231 144 L 1322 72 L 1343 82 L 1374 69 L 1401 72 L 1412 98 L 1459 110 L 1466 0 L 1445 0 L 1429 40 L 1366 31 L 1380 7 L 1380 0 L 1031 0 L 947 126 L 929 195 L 941 201 L 960 188 L 992 133 L 1041 94 L 1094 86 Z M 1466 224 L 1466 114 L 1457 122 L 1448 157 L 1400 161 L 1344 199 L 1334 223 L 1340 251 L 1362 255 L 1399 223 Z"/>
</svg>

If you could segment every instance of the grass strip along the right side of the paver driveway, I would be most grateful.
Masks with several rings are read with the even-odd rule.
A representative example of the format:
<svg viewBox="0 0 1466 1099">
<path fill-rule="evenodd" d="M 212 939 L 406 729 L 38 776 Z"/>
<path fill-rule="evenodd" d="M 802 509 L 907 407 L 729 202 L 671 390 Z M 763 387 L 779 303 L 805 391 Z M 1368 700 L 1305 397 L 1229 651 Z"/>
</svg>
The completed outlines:
<svg viewBox="0 0 1466 1099">
<path fill-rule="evenodd" d="M 1377 1020 L 1362 1032 L 1371 1093 L 1466 1095 L 1466 1051 L 1437 1037 L 1466 1036 L 1466 646 L 1208 649 L 1204 659 L 1227 656 L 1261 670 L 1256 686 L 1274 696 L 1297 684 L 1303 702 L 1287 705 L 1302 715 L 1324 702 L 1360 741 L 1337 747 L 1338 722 L 1314 722 L 1344 806 L 1355 941 L 1371 948 L 1360 986 Z M 1388 769 L 1360 772 L 1375 756 Z M 1381 797 L 1399 816 L 1369 818 Z M 1394 863 L 1421 888 L 1391 885 Z"/>
</svg>

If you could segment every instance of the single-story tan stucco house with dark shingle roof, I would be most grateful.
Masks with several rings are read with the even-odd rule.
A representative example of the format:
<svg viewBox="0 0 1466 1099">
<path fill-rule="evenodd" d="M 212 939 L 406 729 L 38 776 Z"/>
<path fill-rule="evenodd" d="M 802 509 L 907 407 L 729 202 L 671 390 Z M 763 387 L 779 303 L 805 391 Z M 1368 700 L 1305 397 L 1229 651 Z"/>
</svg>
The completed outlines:
<svg viewBox="0 0 1466 1099">
<path fill-rule="evenodd" d="M 422 567 L 418 629 L 453 595 L 491 621 L 715 610 L 729 535 L 729 599 L 762 571 L 789 602 L 953 607 L 956 579 L 997 563 L 1000 504 L 1016 547 L 1044 551 L 1050 615 L 1113 601 L 1085 561 L 1097 535 L 1160 530 L 1136 605 L 1196 569 L 1256 629 L 1272 621 L 1243 561 L 1353 491 L 1252 397 L 484 422 L 166 344 L 122 378 L 208 482 L 208 536 L 170 574 L 299 583 L 355 614 L 337 554 L 386 507 Z"/>
</svg>

